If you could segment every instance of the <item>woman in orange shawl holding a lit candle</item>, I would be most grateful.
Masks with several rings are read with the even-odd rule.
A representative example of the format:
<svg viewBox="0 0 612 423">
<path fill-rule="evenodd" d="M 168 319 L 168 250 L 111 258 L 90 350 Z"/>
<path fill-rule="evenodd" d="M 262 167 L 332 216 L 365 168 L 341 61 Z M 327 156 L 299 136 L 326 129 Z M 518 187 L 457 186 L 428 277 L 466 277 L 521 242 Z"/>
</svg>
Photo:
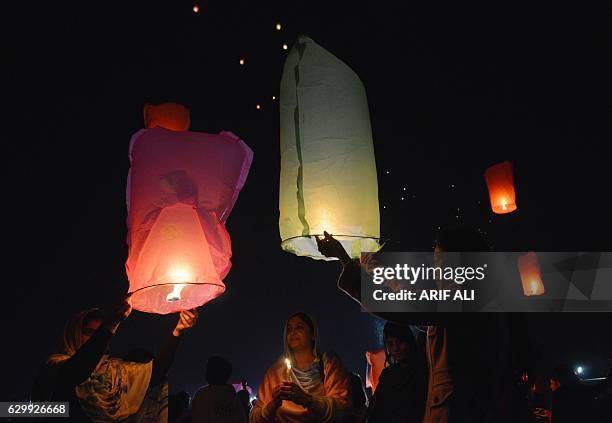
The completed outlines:
<svg viewBox="0 0 612 423">
<path fill-rule="evenodd" d="M 337 355 L 319 354 L 317 328 L 305 313 L 285 324 L 285 356 L 259 386 L 251 423 L 341 422 L 350 413 L 350 378 Z"/>
</svg>

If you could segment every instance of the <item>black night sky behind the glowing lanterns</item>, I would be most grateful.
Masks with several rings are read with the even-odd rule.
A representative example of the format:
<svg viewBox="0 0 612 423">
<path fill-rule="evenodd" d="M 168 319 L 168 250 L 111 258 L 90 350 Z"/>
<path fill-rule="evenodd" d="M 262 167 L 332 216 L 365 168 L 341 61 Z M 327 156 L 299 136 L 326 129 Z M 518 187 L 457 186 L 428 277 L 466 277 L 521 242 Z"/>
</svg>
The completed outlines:
<svg viewBox="0 0 612 423">
<path fill-rule="evenodd" d="M 366 87 L 388 251 L 428 251 L 452 223 L 480 228 L 497 251 L 610 251 L 610 9 L 210 0 L 196 14 L 186 1 L 121 3 L 5 12 L 0 399 L 27 397 L 72 313 L 127 289 L 127 149 L 146 102 L 182 103 L 192 130 L 230 130 L 255 153 L 227 223 L 227 291 L 200 309 L 171 391 L 202 385 L 211 354 L 257 386 L 297 310 L 363 375 L 380 321 L 336 288 L 337 263 L 279 246 L 282 44 L 299 34 Z M 499 216 L 483 173 L 503 160 L 518 210 Z M 134 311 L 113 353 L 155 350 L 176 320 Z M 610 313 L 529 321 L 542 361 L 612 353 Z"/>
</svg>

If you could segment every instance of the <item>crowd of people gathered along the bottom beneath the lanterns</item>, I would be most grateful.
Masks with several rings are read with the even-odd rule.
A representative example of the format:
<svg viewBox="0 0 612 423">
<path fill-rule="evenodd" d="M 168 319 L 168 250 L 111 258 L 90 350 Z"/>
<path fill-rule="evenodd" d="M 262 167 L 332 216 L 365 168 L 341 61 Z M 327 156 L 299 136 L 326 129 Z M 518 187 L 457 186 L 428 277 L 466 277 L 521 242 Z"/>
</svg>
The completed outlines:
<svg viewBox="0 0 612 423">
<path fill-rule="evenodd" d="M 351 259 L 328 233 L 317 245 L 342 263 L 338 288 L 361 304 L 360 274 L 377 266 L 376 256 Z M 434 251 L 490 249 L 480 232 L 449 228 Z M 321 349 L 315 319 L 296 312 L 284 325 L 284 351 L 258 381 L 256 396 L 245 380 L 239 389 L 228 384 L 232 364 L 212 356 L 206 384 L 191 398 L 185 391 L 169 395 L 166 375 L 198 311 L 180 313 L 157 354 L 137 348 L 111 357 L 109 343 L 131 310 L 128 294 L 74 315 L 42 366 L 31 400 L 69 402 L 75 422 L 612 421 L 603 405 L 611 399 L 609 378 L 594 389 L 570 366 L 536 369 L 519 313 L 373 313 L 386 324 L 385 367 L 372 393 L 341 357 Z"/>
</svg>

